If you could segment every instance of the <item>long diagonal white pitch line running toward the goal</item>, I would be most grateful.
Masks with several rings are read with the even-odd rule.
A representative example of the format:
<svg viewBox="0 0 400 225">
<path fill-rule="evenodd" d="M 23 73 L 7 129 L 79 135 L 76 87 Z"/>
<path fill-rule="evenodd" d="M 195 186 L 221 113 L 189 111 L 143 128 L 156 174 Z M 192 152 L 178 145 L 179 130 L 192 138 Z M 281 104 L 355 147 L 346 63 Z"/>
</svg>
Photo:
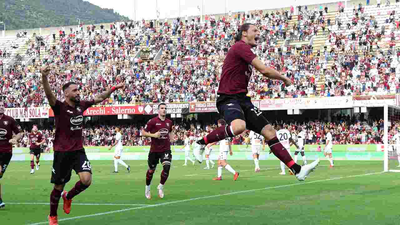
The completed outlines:
<svg viewBox="0 0 400 225">
<path fill-rule="evenodd" d="M 234 195 L 234 194 L 239 194 L 239 193 L 247 193 L 247 192 L 253 192 L 253 191 L 269 190 L 269 189 L 275 189 L 275 188 L 280 188 L 280 187 L 291 187 L 291 186 L 296 186 L 296 185 L 318 183 L 318 182 L 322 182 L 322 181 L 333 181 L 333 180 L 338 180 L 338 179 L 343 179 L 343 178 L 350 178 L 350 177 L 362 177 L 362 176 L 366 176 L 366 175 L 374 175 L 374 174 L 379 174 L 379 173 L 384 173 L 384 172 L 365 173 L 365 174 L 360 174 L 360 175 L 352 175 L 352 176 L 347 176 L 347 177 L 338 177 L 338 178 L 331 178 L 331 179 L 318 180 L 318 181 L 309 181 L 309 182 L 295 183 L 295 184 L 290 184 L 290 185 L 279 185 L 279 186 L 274 186 L 274 187 L 265 187 L 265 188 L 245 190 L 245 191 L 236 191 L 236 192 L 225 193 L 225 194 L 220 194 L 220 195 L 209 195 L 209 196 L 203 196 L 203 197 L 198 197 L 198 198 L 193 198 L 193 199 L 184 199 L 184 200 L 178 200 L 178 201 L 170 201 L 170 202 L 166 202 L 166 203 L 159 203 L 159 204 L 155 204 L 155 205 L 146 205 L 146 206 L 140 206 L 140 207 L 134 207 L 134 208 L 128 208 L 128 209 L 109 211 L 109 212 L 105 212 L 105 213 L 96 213 L 96 214 L 91 214 L 91 215 L 70 217 L 70 218 L 65 218 L 65 219 L 59 219 L 58 221 L 73 220 L 73 219 L 80 219 L 80 218 L 86 218 L 86 217 L 95 217 L 95 216 L 101 216 L 101 215 L 108 215 L 108 214 L 112 214 L 112 213 L 120 213 L 120 212 L 125 212 L 125 211 L 131 211 L 131 210 L 135 210 L 135 209 L 144 209 L 144 208 L 157 207 L 157 206 L 162 206 L 162 205 L 170 205 L 170 204 L 174 204 L 174 203 L 182 203 L 182 202 L 187 202 L 187 201 L 194 201 L 194 200 L 198 200 L 198 199 L 209 199 L 209 198 L 220 197 L 220 196 L 225 196 L 225 195 Z M 28 225 L 40 225 L 40 224 L 45 224 L 45 223 L 48 223 L 48 221 L 40 222 L 40 223 L 31 223 L 31 224 L 28 224 Z"/>
</svg>

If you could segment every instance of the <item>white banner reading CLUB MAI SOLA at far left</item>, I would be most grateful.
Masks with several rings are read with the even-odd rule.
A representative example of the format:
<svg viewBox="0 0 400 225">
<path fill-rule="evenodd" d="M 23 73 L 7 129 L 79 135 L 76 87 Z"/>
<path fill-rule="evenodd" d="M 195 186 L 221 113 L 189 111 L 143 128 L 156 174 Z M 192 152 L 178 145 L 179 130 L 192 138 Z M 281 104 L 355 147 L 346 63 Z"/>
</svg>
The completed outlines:
<svg viewBox="0 0 400 225">
<path fill-rule="evenodd" d="M 50 107 L 5 108 L 4 114 L 14 119 L 49 118 Z"/>
</svg>

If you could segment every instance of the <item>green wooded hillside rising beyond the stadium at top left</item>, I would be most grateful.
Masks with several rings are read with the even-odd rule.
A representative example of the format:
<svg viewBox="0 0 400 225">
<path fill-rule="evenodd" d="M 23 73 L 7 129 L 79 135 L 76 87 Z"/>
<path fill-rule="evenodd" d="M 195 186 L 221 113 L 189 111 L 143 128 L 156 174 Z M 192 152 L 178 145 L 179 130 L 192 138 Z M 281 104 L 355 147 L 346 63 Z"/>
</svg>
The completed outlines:
<svg viewBox="0 0 400 225">
<path fill-rule="evenodd" d="M 6 30 L 77 25 L 78 19 L 84 24 L 128 20 L 112 9 L 82 0 L 4 0 L 0 5 L 4 9 L 0 21 L 6 21 Z"/>
</svg>

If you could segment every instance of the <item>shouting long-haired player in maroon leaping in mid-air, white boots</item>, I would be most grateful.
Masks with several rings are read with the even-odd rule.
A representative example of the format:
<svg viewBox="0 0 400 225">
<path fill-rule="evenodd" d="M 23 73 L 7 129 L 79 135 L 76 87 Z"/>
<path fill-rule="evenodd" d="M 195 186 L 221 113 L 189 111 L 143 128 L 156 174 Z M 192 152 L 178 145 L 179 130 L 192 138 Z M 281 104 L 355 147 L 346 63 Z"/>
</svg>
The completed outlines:
<svg viewBox="0 0 400 225">
<path fill-rule="evenodd" d="M 254 24 L 245 23 L 240 26 L 240 30 L 235 36 L 236 43 L 230 48 L 224 60 L 217 92 L 218 112 L 230 125 L 218 127 L 203 139 L 192 143 L 193 151 L 198 155 L 205 145 L 227 137 L 234 137 L 247 128 L 261 134 L 272 153 L 290 168 L 299 181 L 303 181 L 309 173 L 314 171 L 319 159 L 303 167 L 294 163 L 288 151 L 276 137 L 275 129 L 247 96 L 247 87 L 253 67 L 268 78 L 282 80 L 286 86 L 292 84 L 289 78 L 266 67 L 252 52 L 251 49 L 257 46 L 259 39 L 260 30 Z"/>
</svg>

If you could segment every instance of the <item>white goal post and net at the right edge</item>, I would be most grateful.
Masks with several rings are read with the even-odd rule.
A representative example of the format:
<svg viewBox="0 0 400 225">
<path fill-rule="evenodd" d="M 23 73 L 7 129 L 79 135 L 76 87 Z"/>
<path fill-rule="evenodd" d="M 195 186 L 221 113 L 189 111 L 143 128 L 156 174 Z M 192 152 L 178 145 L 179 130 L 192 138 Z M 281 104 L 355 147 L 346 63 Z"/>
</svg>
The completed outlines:
<svg viewBox="0 0 400 225">
<path fill-rule="evenodd" d="M 400 106 L 384 106 L 384 171 L 400 172 Z"/>
</svg>

